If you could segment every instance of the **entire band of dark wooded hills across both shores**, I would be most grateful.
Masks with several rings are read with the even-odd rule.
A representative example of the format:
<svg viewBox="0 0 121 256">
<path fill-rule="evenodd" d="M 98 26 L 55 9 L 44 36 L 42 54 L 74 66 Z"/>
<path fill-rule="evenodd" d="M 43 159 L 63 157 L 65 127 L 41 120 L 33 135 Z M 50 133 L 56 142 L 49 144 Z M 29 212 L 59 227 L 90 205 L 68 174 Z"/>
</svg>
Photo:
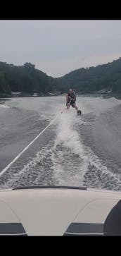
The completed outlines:
<svg viewBox="0 0 121 256">
<path fill-rule="evenodd" d="M 60 78 L 46 75 L 32 63 L 14 66 L 0 61 L 0 95 L 11 95 L 11 92 L 36 92 L 39 95 L 55 91 L 63 93 L 69 88 L 78 93 L 101 90 L 121 93 L 121 58 L 96 67 L 79 68 Z"/>
</svg>

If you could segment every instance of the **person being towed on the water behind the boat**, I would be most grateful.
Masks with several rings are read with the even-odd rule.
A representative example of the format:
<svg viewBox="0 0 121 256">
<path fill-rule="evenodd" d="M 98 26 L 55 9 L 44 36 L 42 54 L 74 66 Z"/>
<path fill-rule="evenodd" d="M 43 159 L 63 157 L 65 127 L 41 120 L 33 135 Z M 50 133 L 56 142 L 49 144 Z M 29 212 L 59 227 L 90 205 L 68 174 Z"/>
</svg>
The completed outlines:
<svg viewBox="0 0 121 256">
<path fill-rule="evenodd" d="M 76 95 L 75 95 L 75 92 L 70 89 L 66 95 L 66 106 L 67 106 L 67 109 L 70 108 L 70 106 L 72 106 L 73 108 L 75 108 L 77 110 L 77 114 L 81 114 L 81 111 L 78 110 L 78 107 L 77 105 L 75 104 L 75 101 L 76 101 Z"/>
</svg>

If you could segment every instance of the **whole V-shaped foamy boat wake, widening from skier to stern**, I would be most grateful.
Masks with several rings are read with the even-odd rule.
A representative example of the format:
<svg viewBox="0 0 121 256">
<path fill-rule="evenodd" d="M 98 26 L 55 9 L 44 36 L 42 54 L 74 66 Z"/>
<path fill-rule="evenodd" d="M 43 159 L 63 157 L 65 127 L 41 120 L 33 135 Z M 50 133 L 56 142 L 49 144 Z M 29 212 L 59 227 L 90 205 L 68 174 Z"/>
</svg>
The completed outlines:
<svg viewBox="0 0 121 256">
<path fill-rule="evenodd" d="M 26 159 L 27 164 L 22 169 L 20 161 L 11 167 L 3 176 L 1 187 L 84 185 L 88 188 L 120 190 L 120 175 L 112 173 L 93 150 L 84 145 L 79 130 L 89 125 L 85 120 L 83 116 L 76 116 L 73 109 L 69 113 L 65 111 L 52 125 L 55 138 L 51 138 L 35 157 Z"/>
</svg>

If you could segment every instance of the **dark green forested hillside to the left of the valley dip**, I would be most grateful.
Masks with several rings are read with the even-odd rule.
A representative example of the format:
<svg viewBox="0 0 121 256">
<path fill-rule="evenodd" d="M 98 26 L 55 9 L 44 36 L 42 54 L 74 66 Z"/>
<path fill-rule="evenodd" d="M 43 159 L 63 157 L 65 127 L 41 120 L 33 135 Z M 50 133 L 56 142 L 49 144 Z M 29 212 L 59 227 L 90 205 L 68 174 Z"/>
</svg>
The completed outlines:
<svg viewBox="0 0 121 256">
<path fill-rule="evenodd" d="M 0 62 L 0 93 L 22 92 L 32 94 L 37 92 L 52 92 L 55 90 L 55 80 L 46 73 L 34 68 L 32 63 L 14 66 Z"/>
</svg>

